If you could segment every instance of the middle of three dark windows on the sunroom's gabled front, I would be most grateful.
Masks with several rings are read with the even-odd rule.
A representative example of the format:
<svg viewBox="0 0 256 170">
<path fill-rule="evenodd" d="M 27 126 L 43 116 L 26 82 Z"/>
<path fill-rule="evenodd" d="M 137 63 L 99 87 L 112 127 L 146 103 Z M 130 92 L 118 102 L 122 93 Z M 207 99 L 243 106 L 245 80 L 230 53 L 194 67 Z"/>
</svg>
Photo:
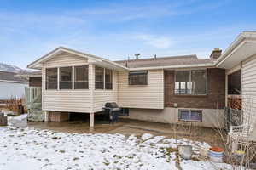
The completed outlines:
<svg viewBox="0 0 256 170">
<path fill-rule="evenodd" d="M 60 89 L 72 89 L 72 67 L 60 68 Z"/>
</svg>

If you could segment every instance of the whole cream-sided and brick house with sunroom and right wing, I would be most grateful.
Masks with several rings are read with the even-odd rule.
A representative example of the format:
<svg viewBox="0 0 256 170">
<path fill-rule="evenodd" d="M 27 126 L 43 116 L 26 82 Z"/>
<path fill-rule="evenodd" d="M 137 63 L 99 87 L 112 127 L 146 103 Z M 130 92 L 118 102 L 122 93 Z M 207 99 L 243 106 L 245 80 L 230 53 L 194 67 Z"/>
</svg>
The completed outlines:
<svg viewBox="0 0 256 170">
<path fill-rule="evenodd" d="M 106 102 L 116 102 L 129 108 L 131 119 L 213 127 L 224 122 L 228 75 L 241 70 L 236 96 L 256 99 L 255 65 L 256 33 L 245 31 L 223 54 L 215 48 L 209 59 L 185 55 L 113 62 L 60 47 L 28 65 L 42 71 L 28 77 L 31 86 L 42 85 L 45 121 L 49 113 L 79 112 L 90 114 L 93 126 L 94 114 Z"/>
</svg>

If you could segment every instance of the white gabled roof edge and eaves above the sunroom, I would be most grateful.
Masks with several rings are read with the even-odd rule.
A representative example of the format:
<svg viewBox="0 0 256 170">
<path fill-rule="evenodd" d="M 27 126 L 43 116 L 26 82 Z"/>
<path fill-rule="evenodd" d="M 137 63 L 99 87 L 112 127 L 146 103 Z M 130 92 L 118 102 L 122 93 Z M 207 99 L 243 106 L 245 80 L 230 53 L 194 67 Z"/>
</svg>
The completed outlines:
<svg viewBox="0 0 256 170">
<path fill-rule="evenodd" d="M 123 71 L 123 70 L 128 70 L 128 68 L 126 68 L 123 65 L 119 65 L 113 61 L 110 61 L 108 59 L 103 59 L 101 57 L 98 57 L 96 55 L 91 55 L 91 54 L 85 54 L 70 48 L 64 48 L 64 47 L 59 47 L 56 48 L 55 50 L 49 52 L 49 54 L 45 54 L 43 57 L 35 60 L 34 62 L 32 62 L 31 64 L 27 65 L 27 68 L 30 69 L 41 69 L 43 66 L 43 63 L 49 59 L 52 59 L 53 57 L 55 57 L 56 54 L 60 54 L 61 52 L 66 52 L 69 54 L 74 54 L 77 55 L 79 57 L 84 57 L 86 59 L 88 59 L 88 62 L 93 63 L 94 65 L 99 65 L 99 66 L 104 66 L 106 68 L 110 68 L 113 70 L 118 70 L 118 71 Z"/>
</svg>

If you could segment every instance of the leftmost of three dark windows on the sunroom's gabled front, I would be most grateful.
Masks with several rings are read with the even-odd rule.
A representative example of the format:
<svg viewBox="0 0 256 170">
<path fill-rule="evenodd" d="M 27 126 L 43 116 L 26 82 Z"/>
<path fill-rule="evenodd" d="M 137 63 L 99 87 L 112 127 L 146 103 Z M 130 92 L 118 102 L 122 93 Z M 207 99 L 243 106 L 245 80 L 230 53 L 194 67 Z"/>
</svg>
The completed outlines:
<svg viewBox="0 0 256 170">
<path fill-rule="evenodd" d="M 46 89 L 57 89 L 58 88 L 58 69 L 49 68 L 46 69 Z"/>
</svg>

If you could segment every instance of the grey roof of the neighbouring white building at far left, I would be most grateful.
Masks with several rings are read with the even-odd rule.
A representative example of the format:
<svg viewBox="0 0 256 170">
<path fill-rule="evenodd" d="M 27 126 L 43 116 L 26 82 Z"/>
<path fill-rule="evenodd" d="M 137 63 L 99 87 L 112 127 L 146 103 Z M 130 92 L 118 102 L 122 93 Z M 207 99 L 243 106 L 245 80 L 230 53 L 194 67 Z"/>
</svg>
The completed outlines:
<svg viewBox="0 0 256 170">
<path fill-rule="evenodd" d="M 15 72 L 0 71 L 0 82 L 27 83 L 27 80 L 24 77 L 17 77 L 17 73 Z"/>
</svg>

